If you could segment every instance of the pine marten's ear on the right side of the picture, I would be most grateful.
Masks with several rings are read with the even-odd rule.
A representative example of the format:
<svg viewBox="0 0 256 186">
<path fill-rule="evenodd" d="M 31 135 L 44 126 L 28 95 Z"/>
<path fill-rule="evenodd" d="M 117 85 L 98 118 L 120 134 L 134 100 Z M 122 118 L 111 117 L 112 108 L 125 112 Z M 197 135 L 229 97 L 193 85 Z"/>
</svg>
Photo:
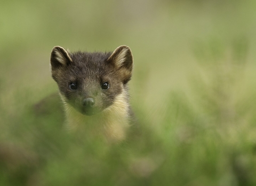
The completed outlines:
<svg viewBox="0 0 256 186">
<path fill-rule="evenodd" d="M 107 60 L 115 66 L 118 71 L 121 71 L 124 78 L 129 81 L 133 70 L 133 56 L 129 47 L 122 45 L 115 49 Z"/>
</svg>

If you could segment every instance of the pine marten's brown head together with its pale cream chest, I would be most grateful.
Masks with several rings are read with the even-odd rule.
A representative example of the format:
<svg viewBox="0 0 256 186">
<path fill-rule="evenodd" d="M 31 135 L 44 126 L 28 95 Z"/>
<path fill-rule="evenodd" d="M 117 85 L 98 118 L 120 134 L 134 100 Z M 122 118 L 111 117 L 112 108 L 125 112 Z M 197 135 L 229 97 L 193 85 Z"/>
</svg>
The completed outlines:
<svg viewBox="0 0 256 186">
<path fill-rule="evenodd" d="M 51 53 L 52 78 L 57 82 L 71 128 L 97 122 L 107 138 L 122 140 L 130 117 L 127 82 L 133 56 L 127 46 L 113 53 L 70 53 L 55 46 Z"/>
</svg>

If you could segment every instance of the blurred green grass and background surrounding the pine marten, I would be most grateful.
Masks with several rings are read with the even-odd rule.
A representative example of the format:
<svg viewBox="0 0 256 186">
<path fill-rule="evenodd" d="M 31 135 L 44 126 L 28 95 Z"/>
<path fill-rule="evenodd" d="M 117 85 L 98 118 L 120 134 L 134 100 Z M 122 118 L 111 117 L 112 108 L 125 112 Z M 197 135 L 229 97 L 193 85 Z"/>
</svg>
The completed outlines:
<svg viewBox="0 0 256 186">
<path fill-rule="evenodd" d="M 256 184 L 255 1 L 2 1 L 0 12 L 0 185 Z M 130 139 L 63 129 L 55 45 L 131 47 Z"/>
</svg>

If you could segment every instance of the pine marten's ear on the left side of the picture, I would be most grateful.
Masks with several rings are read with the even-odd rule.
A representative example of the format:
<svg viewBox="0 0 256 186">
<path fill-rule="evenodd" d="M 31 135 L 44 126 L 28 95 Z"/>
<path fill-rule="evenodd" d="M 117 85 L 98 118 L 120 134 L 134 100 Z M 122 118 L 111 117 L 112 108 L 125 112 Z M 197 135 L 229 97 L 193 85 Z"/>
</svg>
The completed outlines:
<svg viewBox="0 0 256 186">
<path fill-rule="evenodd" d="M 55 46 L 51 53 L 51 69 L 52 71 L 58 69 L 61 66 L 66 66 L 68 63 L 72 62 L 67 50 L 60 46 Z"/>
</svg>

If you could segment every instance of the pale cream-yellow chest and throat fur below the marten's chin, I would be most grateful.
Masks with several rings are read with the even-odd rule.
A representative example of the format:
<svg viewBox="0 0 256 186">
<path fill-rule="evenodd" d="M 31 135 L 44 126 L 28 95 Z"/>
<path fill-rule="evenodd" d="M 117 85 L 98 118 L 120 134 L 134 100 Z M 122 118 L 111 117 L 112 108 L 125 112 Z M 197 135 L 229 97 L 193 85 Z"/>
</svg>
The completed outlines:
<svg viewBox="0 0 256 186">
<path fill-rule="evenodd" d="M 86 116 L 66 104 L 66 126 L 70 131 L 83 130 L 86 135 L 105 138 L 108 142 L 122 141 L 129 128 L 129 103 L 125 94 L 115 98 L 115 102 L 93 116 Z"/>
</svg>

